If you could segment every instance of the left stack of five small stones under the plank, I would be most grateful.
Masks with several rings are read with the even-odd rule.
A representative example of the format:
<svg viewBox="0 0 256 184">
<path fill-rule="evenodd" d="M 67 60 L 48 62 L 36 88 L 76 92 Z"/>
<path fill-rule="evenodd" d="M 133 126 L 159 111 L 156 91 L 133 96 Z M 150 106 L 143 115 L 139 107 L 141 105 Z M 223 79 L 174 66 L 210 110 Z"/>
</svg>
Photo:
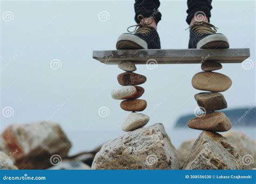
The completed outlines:
<svg viewBox="0 0 256 184">
<path fill-rule="evenodd" d="M 137 68 L 130 61 L 122 62 L 118 67 L 125 71 L 125 73 L 117 76 L 117 80 L 122 86 L 114 89 L 111 95 L 115 100 L 124 100 L 120 103 L 120 107 L 123 110 L 131 111 L 131 114 L 125 119 L 122 125 L 122 130 L 136 130 L 149 122 L 149 116 L 138 113 L 138 111 L 146 109 L 147 102 L 137 99 L 144 93 L 144 88 L 137 85 L 146 82 L 146 76 L 133 73 Z"/>
</svg>

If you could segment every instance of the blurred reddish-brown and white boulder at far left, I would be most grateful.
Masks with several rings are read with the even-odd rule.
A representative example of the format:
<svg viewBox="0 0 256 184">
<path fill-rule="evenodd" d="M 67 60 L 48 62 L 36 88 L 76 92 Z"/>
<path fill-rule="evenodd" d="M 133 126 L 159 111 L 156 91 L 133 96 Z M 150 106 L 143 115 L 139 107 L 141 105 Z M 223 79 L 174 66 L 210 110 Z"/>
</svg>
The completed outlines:
<svg viewBox="0 0 256 184">
<path fill-rule="evenodd" d="M 8 152 L 16 152 L 15 165 L 22 169 L 44 169 L 53 154 L 66 157 L 71 143 L 57 123 L 14 124 L 2 133 Z"/>
</svg>

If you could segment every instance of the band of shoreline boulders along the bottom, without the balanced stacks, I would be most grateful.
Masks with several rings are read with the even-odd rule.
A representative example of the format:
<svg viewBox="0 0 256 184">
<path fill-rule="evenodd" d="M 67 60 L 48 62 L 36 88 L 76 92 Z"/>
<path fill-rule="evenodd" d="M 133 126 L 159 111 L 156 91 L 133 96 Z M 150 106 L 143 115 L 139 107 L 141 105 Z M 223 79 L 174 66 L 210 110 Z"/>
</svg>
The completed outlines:
<svg viewBox="0 0 256 184">
<path fill-rule="evenodd" d="M 203 131 L 176 150 L 164 125 L 157 123 L 70 156 L 71 145 L 57 123 L 11 125 L 0 137 L 0 169 L 256 168 L 256 142 L 236 131 L 224 136 Z"/>
</svg>

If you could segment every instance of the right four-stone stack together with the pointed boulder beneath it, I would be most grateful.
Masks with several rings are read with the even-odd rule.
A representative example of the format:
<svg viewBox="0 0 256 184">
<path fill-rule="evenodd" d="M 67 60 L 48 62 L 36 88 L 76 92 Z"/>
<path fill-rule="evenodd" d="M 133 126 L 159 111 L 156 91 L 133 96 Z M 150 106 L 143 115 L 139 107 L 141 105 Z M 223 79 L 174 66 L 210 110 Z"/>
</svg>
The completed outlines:
<svg viewBox="0 0 256 184">
<path fill-rule="evenodd" d="M 210 91 L 194 95 L 203 114 L 188 121 L 192 129 L 201 132 L 190 154 L 187 155 L 182 169 L 243 169 L 242 158 L 230 142 L 217 132 L 231 129 L 231 122 L 223 112 L 227 102 L 219 92 L 231 87 L 232 81 L 226 75 L 212 72 L 221 69 L 218 62 L 205 61 L 201 65 L 204 72 L 192 78 L 192 86 L 199 90 Z"/>
</svg>

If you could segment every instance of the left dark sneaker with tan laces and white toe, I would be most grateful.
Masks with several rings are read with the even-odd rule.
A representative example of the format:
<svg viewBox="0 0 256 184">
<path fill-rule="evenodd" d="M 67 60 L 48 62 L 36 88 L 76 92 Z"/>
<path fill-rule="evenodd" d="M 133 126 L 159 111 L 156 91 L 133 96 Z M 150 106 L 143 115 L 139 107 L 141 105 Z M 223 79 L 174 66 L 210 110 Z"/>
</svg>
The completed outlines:
<svg viewBox="0 0 256 184">
<path fill-rule="evenodd" d="M 149 26 L 151 23 L 139 23 L 134 31 L 121 34 L 117 39 L 117 49 L 158 49 L 160 46 L 160 38 L 157 30 Z M 133 34 L 132 34 L 133 33 Z"/>
</svg>

